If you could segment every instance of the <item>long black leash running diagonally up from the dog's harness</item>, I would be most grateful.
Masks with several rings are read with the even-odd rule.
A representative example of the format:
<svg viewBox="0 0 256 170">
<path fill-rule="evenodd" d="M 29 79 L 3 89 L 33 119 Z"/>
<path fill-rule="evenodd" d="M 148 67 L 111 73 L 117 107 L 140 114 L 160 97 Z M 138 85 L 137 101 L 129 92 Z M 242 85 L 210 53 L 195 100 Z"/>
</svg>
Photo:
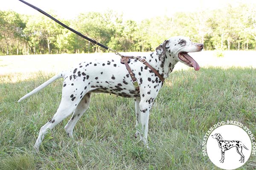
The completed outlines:
<svg viewBox="0 0 256 170">
<path fill-rule="evenodd" d="M 116 50 L 113 50 L 113 49 L 107 47 L 106 45 L 103 45 L 103 44 L 97 42 L 96 40 L 93 40 L 93 39 L 90 39 L 90 38 L 86 37 L 85 35 L 83 35 L 83 34 L 81 34 L 80 32 L 74 30 L 73 28 L 70 28 L 69 26 L 65 25 L 64 23 L 61 23 L 59 20 L 57 20 L 56 18 L 54 18 L 54 17 L 52 17 L 51 15 L 47 14 L 45 11 L 39 9 L 38 7 L 33 6 L 32 4 L 27 3 L 27 2 L 24 1 L 24 0 L 19 0 L 19 1 L 25 3 L 26 5 L 28 5 L 28 6 L 32 7 L 32 8 L 34 8 L 35 10 L 41 12 L 42 14 L 44 14 L 44 15 L 46 15 L 47 17 L 51 18 L 52 20 L 54 20 L 56 23 L 60 24 L 61 26 L 67 28 L 68 30 L 70 30 L 70 31 L 72 31 L 73 33 L 79 35 L 80 37 L 83 37 L 84 39 L 86 39 L 86 40 L 92 42 L 94 45 L 99 45 L 100 47 L 105 48 L 105 49 L 108 50 L 108 51 L 113 51 L 116 55 L 119 55 L 119 56 L 123 57 L 123 56 L 122 56 L 121 54 L 119 54 Z"/>
</svg>

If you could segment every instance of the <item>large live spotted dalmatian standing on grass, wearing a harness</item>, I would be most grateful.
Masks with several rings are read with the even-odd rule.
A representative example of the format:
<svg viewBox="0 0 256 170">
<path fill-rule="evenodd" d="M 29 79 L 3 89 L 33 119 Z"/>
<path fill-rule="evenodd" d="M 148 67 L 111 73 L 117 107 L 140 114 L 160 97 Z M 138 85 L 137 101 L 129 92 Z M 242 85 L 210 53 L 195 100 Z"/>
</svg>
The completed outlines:
<svg viewBox="0 0 256 170">
<path fill-rule="evenodd" d="M 188 53 L 198 52 L 203 48 L 203 44 L 192 42 L 188 37 L 171 37 L 160 44 L 154 52 L 143 58 L 166 79 L 179 61 L 198 71 L 200 69 L 198 63 Z M 73 129 L 77 121 L 89 107 L 91 93 L 109 93 L 135 98 L 135 126 L 137 128 L 135 138 L 139 136 L 140 140 L 148 147 L 149 111 L 163 82 L 138 59 L 130 59 L 129 66 L 139 84 L 140 94 L 135 90 L 131 77 L 120 59 L 109 59 L 82 62 L 69 71 L 55 75 L 23 96 L 18 102 L 37 93 L 56 79 L 64 79 L 61 103 L 52 119 L 41 127 L 34 145 L 35 150 L 39 151 L 47 131 L 71 113 L 73 116 L 65 126 L 65 130 L 68 136 L 73 137 Z"/>
</svg>

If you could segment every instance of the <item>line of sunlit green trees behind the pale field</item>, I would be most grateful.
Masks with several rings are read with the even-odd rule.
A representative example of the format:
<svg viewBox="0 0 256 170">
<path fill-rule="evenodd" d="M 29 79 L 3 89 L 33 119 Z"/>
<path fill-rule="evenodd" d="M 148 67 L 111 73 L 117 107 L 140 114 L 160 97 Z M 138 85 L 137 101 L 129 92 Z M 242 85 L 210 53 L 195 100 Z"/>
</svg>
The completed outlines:
<svg viewBox="0 0 256 170">
<path fill-rule="evenodd" d="M 52 12 L 50 12 L 52 14 Z M 256 50 L 256 6 L 177 12 L 141 22 L 124 20 L 115 11 L 79 14 L 61 22 L 117 51 L 152 51 L 176 35 L 204 43 L 205 50 Z M 0 54 L 92 53 L 104 49 L 77 36 L 43 14 L 0 11 Z"/>
</svg>

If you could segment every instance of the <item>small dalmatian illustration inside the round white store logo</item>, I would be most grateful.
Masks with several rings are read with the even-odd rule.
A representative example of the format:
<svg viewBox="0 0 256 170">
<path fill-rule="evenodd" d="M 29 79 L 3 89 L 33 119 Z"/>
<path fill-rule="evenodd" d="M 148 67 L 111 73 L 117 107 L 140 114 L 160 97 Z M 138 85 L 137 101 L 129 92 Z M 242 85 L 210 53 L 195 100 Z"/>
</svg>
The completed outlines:
<svg viewBox="0 0 256 170">
<path fill-rule="evenodd" d="M 239 153 L 239 155 L 241 156 L 240 160 L 241 163 L 244 162 L 244 155 L 242 153 L 242 149 L 243 147 L 247 149 L 247 147 L 244 146 L 244 144 L 241 141 L 225 141 L 221 134 L 219 133 L 215 133 L 214 135 L 212 135 L 212 138 L 217 139 L 218 145 L 221 149 L 221 160 L 220 162 L 223 163 L 224 162 L 224 153 L 225 150 L 229 150 L 231 147 L 236 147 L 236 152 Z"/>
</svg>

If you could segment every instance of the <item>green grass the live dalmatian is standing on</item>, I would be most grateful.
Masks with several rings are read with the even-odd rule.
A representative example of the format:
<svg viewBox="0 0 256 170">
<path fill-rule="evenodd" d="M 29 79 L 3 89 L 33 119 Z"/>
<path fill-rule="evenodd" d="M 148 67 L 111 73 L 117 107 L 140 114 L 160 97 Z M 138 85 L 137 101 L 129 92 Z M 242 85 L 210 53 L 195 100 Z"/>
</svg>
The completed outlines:
<svg viewBox="0 0 256 170">
<path fill-rule="evenodd" d="M 133 99 L 93 94 L 90 108 L 67 137 L 65 119 L 47 134 L 40 153 L 38 132 L 58 108 L 62 80 L 21 103 L 17 100 L 53 74 L 8 74 L 0 77 L 1 170 L 212 170 L 201 144 L 209 127 L 236 120 L 256 135 L 256 69 L 202 68 L 175 71 L 151 109 L 148 141 L 134 139 Z M 28 79 L 23 79 L 28 77 Z M 241 170 L 253 170 L 251 156 Z"/>
</svg>

